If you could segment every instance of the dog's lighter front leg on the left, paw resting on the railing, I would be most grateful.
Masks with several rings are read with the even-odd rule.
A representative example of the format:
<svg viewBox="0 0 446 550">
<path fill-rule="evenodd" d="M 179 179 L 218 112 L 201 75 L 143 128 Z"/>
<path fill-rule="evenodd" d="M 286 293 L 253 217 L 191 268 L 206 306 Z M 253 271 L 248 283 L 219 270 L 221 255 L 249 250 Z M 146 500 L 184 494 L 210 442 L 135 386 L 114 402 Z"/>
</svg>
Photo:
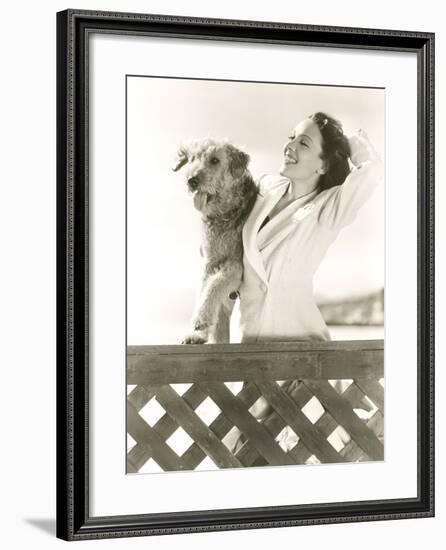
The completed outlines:
<svg viewBox="0 0 446 550">
<path fill-rule="evenodd" d="M 192 321 L 192 333 L 186 336 L 183 344 L 205 344 L 209 340 L 220 309 L 227 304 L 229 294 L 238 290 L 241 279 L 242 266 L 235 262 L 206 274 Z"/>
</svg>

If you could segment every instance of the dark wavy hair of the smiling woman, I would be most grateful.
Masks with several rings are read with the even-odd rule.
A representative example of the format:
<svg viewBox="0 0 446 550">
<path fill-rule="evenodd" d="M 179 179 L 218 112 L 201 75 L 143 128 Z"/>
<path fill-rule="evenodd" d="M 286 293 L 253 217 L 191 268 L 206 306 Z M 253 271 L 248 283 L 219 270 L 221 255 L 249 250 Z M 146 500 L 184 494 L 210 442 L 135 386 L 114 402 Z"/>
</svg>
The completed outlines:
<svg viewBox="0 0 446 550">
<path fill-rule="evenodd" d="M 322 136 L 321 158 L 326 172 L 319 178 L 320 192 L 344 183 L 350 173 L 350 144 L 341 123 L 333 117 L 325 113 L 315 113 L 310 118 L 317 124 Z"/>
</svg>

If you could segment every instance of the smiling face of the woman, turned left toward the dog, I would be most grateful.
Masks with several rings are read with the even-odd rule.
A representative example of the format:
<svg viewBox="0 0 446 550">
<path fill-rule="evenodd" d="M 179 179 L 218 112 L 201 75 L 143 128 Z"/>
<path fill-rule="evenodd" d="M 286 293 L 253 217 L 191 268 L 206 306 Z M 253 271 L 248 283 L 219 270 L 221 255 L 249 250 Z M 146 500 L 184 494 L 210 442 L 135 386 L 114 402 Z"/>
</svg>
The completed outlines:
<svg viewBox="0 0 446 550">
<path fill-rule="evenodd" d="M 284 148 L 280 174 L 291 180 L 319 179 L 324 173 L 322 135 L 310 118 L 304 119 L 294 128 Z"/>
</svg>

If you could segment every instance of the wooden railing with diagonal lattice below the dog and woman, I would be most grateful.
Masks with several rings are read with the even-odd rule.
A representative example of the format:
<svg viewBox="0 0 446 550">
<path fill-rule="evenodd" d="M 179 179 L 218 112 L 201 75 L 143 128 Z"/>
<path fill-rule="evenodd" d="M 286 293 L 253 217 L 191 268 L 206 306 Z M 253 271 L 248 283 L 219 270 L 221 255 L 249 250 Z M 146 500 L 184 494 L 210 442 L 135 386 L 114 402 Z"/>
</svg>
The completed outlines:
<svg viewBox="0 0 446 550">
<path fill-rule="evenodd" d="M 128 473 L 384 458 L 382 340 L 129 346 L 127 360 Z"/>
</svg>

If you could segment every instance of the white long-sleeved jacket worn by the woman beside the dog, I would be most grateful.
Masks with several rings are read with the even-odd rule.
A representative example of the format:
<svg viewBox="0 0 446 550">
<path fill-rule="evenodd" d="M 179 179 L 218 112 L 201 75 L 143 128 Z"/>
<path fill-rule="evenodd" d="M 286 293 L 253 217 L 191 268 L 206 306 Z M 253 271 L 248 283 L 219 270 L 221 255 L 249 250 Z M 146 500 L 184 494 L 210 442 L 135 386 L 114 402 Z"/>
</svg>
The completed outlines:
<svg viewBox="0 0 446 550">
<path fill-rule="evenodd" d="M 260 194 L 243 228 L 244 275 L 236 341 L 330 339 L 313 296 L 313 276 L 382 174 L 379 159 L 363 162 L 342 185 L 300 197 L 259 231 L 290 184 L 283 176 L 261 178 Z"/>
</svg>

